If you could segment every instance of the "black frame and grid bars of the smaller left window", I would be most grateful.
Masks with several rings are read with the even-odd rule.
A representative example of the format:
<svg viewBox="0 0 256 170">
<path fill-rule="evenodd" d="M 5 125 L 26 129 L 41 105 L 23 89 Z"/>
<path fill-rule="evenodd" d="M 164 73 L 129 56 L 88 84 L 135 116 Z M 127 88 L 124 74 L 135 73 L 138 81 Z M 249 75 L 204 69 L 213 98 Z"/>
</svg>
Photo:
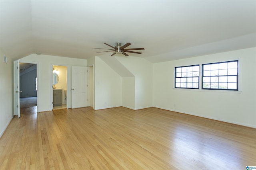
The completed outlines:
<svg viewBox="0 0 256 170">
<path fill-rule="evenodd" d="M 195 71 L 195 72 L 198 72 L 198 76 L 187 76 L 188 74 L 188 72 L 191 72 L 191 71 L 188 71 L 187 70 L 187 68 L 188 67 L 194 67 L 194 66 L 198 66 L 199 67 L 199 69 L 198 69 L 198 71 Z M 177 68 L 185 68 L 186 67 L 186 76 L 182 76 L 182 72 L 180 72 L 181 73 L 181 76 L 178 76 L 177 77 Z M 174 68 L 174 88 L 179 88 L 179 89 L 200 89 L 200 64 L 194 64 L 194 65 L 188 65 L 188 66 L 177 66 L 177 67 L 175 67 Z M 194 70 L 192 70 L 192 74 L 194 74 Z M 176 87 L 176 78 L 186 78 L 186 87 Z M 187 87 L 187 78 L 192 78 L 192 87 Z M 198 82 L 193 82 L 193 78 L 198 78 Z M 180 84 L 181 84 L 182 82 L 180 82 Z M 197 88 L 193 88 L 193 83 L 197 83 L 198 84 L 198 87 Z"/>
</svg>

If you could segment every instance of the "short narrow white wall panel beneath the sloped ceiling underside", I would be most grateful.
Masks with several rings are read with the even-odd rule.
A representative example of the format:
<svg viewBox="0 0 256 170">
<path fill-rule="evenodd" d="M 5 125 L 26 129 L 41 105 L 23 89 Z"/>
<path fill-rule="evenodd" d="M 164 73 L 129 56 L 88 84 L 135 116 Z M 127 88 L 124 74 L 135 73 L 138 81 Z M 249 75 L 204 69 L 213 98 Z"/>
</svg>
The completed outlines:
<svg viewBox="0 0 256 170">
<path fill-rule="evenodd" d="M 135 109 L 135 77 L 122 79 L 122 106 Z"/>
</svg>

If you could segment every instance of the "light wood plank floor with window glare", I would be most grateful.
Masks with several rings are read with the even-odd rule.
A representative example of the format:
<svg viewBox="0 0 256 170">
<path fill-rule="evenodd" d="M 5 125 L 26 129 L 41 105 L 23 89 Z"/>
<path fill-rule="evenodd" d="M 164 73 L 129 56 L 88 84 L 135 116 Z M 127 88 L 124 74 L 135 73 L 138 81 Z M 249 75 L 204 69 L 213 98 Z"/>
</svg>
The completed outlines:
<svg viewBox="0 0 256 170">
<path fill-rule="evenodd" d="M 21 110 L 0 139 L 0 169 L 245 170 L 256 129 L 157 108 Z"/>
</svg>

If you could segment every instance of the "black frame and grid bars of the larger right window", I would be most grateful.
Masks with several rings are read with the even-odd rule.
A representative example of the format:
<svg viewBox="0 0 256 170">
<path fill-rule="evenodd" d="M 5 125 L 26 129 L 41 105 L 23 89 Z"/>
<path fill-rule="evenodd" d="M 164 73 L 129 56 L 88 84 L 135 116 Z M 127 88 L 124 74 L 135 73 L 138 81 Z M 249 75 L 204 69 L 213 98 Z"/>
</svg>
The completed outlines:
<svg viewBox="0 0 256 170">
<path fill-rule="evenodd" d="M 227 70 L 227 73 L 224 74 L 224 75 L 219 75 L 220 74 L 220 70 L 225 70 L 225 69 L 215 69 L 215 70 L 218 70 L 218 75 L 210 75 L 210 76 L 204 76 L 204 65 L 212 65 L 212 64 L 222 64 L 222 63 L 232 63 L 232 62 L 237 62 L 237 67 L 236 67 L 236 74 L 232 74 L 232 75 L 228 75 L 228 67 L 226 68 Z M 231 69 L 231 68 L 230 68 Z M 214 70 L 214 69 L 213 69 Z M 210 68 L 210 70 L 212 72 L 212 68 Z M 220 86 L 220 83 L 219 80 L 220 80 L 220 77 L 225 77 L 227 78 L 226 82 L 225 83 L 228 83 L 228 77 L 231 77 L 231 76 L 236 76 L 236 89 L 232 89 L 232 88 L 219 88 Z M 218 78 L 218 88 L 204 88 L 204 78 L 205 77 L 209 77 L 211 79 L 211 77 L 217 77 Z M 202 64 L 202 76 L 201 76 L 201 89 L 202 90 L 228 90 L 228 91 L 238 91 L 238 85 L 239 85 L 239 82 L 238 82 L 238 77 L 239 77 L 239 61 L 238 60 L 233 60 L 233 61 L 224 61 L 224 62 L 216 62 L 216 63 L 207 63 L 207 64 Z M 211 83 L 211 82 L 210 82 Z"/>
</svg>

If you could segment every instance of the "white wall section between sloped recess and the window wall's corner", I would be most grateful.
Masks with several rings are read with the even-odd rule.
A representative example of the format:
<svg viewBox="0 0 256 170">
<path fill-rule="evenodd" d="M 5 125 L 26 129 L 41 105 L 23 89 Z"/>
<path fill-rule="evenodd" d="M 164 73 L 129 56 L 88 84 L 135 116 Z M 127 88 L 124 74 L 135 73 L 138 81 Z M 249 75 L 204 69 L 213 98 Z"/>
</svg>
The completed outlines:
<svg viewBox="0 0 256 170">
<path fill-rule="evenodd" d="M 152 107 L 153 64 L 140 57 L 116 57 L 135 76 L 135 109 Z"/>
</svg>

